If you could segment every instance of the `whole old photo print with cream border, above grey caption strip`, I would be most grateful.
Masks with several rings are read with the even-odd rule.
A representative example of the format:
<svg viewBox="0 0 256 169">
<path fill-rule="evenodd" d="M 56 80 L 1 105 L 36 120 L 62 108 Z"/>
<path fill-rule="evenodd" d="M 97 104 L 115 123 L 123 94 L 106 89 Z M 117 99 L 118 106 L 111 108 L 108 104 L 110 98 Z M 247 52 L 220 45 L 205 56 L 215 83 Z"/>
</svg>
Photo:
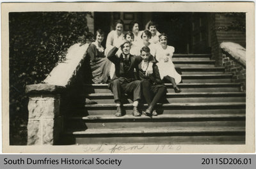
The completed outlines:
<svg viewBox="0 0 256 169">
<path fill-rule="evenodd" d="M 3 151 L 252 152 L 253 5 L 3 3 Z"/>
</svg>

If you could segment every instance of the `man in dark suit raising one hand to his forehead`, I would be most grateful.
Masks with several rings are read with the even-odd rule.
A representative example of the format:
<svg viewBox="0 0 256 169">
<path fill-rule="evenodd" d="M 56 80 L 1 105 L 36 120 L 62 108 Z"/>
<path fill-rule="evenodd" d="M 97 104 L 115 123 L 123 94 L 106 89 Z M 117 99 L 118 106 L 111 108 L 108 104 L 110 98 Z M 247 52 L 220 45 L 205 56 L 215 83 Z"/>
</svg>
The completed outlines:
<svg viewBox="0 0 256 169">
<path fill-rule="evenodd" d="M 138 112 L 138 102 L 141 99 L 141 81 L 134 77 L 134 68 L 136 69 L 137 77 L 139 77 L 138 64 L 140 64 L 142 58 L 139 55 L 130 54 L 131 43 L 129 41 L 124 41 L 120 47 L 122 50 L 120 57 L 116 55 L 119 47 L 112 48 L 108 53 L 108 59 L 115 64 L 115 75 L 109 83 L 109 88 L 114 94 L 117 106 L 115 115 L 120 117 L 124 112 L 124 107 L 121 103 L 122 92 L 133 92 L 134 108 L 132 115 L 140 116 L 141 114 Z M 147 74 L 152 73 L 152 62 L 155 62 L 154 58 L 151 57 L 151 59 L 152 61 L 150 61 L 150 65 L 148 66 Z"/>
</svg>

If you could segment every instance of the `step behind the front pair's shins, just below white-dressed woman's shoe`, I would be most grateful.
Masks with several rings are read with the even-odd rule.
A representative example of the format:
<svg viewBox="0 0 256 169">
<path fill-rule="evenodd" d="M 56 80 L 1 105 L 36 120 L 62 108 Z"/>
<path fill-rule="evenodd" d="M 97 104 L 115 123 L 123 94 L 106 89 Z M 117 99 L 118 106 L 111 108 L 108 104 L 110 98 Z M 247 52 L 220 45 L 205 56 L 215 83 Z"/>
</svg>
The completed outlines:
<svg viewBox="0 0 256 169">
<path fill-rule="evenodd" d="M 124 103 L 133 103 L 127 95 Z M 180 92 L 166 94 L 169 103 L 205 103 L 205 102 L 241 102 L 245 101 L 245 92 Z M 112 93 L 92 93 L 88 98 L 97 101 L 97 103 L 115 103 Z"/>
</svg>

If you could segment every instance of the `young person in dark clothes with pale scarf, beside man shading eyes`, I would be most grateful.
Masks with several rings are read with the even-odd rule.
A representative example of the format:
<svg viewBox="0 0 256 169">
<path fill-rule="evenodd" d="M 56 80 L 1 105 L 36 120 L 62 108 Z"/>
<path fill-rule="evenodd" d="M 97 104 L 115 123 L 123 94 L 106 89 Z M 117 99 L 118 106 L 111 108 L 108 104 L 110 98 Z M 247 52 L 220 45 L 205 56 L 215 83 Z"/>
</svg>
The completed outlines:
<svg viewBox="0 0 256 169">
<path fill-rule="evenodd" d="M 143 47 L 140 50 L 142 61 L 139 64 L 140 78 L 142 80 L 142 91 L 145 100 L 147 101 L 148 108 L 145 111 L 147 116 L 157 115 L 154 107 L 156 103 L 166 94 L 166 86 L 162 85 L 163 82 L 160 78 L 159 71 L 156 64 L 153 64 L 153 73 L 146 75 L 148 69 L 148 59 L 150 58 L 150 48 Z"/>
</svg>

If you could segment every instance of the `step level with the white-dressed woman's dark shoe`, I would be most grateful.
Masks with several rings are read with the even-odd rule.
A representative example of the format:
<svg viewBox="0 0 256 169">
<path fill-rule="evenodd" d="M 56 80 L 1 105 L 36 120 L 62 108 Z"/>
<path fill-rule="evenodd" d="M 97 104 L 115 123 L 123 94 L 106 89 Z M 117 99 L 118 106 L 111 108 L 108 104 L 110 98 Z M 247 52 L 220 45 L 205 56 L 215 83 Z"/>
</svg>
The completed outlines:
<svg viewBox="0 0 256 169">
<path fill-rule="evenodd" d="M 164 84 L 168 92 L 174 92 L 172 84 Z M 177 84 L 182 92 L 239 92 L 240 83 L 182 83 Z M 84 84 L 88 93 L 110 93 L 108 84 Z"/>
</svg>

